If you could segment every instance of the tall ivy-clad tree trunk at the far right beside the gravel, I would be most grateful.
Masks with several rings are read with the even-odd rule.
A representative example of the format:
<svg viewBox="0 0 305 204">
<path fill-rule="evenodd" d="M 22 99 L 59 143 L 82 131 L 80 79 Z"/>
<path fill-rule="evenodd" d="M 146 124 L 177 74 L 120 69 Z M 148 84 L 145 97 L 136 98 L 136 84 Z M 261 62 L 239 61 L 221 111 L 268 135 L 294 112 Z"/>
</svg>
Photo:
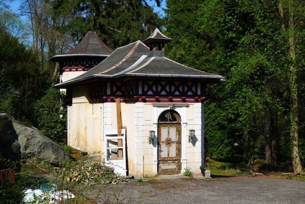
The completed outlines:
<svg viewBox="0 0 305 204">
<path fill-rule="evenodd" d="M 292 164 L 294 172 L 302 171 L 302 164 L 299 155 L 299 135 L 298 135 L 298 91 L 297 91 L 297 73 L 295 68 L 296 53 L 295 53 L 295 42 L 294 42 L 294 22 L 293 22 L 293 2 L 289 1 L 289 55 L 292 58 L 292 63 L 289 66 L 290 71 L 290 100 L 291 100 L 291 110 L 290 110 L 290 135 L 293 142 L 293 153 L 292 153 Z"/>
</svg>

